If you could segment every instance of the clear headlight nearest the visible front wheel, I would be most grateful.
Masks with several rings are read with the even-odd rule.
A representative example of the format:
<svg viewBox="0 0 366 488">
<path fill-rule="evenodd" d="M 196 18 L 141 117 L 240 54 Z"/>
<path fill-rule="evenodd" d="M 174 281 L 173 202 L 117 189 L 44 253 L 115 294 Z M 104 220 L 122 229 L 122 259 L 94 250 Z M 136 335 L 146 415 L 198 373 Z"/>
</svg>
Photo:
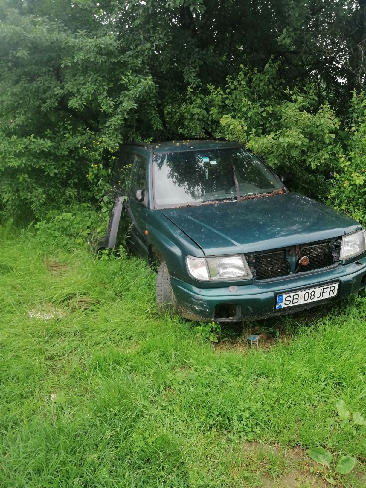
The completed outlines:
<svg viewBox="0 0 366 488">
<path fill-rule="evenodd" d="M 189 274 L 199 281 L 249 280 L 252 277 L 241 254 L 212 258 L 187 256 L 186 260 Z"/>
</svg>

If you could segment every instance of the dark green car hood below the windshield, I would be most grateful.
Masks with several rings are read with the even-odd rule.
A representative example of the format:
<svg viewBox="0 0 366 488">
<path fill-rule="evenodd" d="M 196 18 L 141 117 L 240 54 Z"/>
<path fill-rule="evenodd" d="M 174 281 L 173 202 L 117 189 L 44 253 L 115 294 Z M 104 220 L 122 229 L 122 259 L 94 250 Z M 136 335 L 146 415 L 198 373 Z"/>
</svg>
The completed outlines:
<svg viewBox="0 0 366 488">
<path fill-rule="evenodd" d="M 160 211 L 206 256 L 306 244 L 361 228 L 346 214 L 296 193 Z"/>
</svg>

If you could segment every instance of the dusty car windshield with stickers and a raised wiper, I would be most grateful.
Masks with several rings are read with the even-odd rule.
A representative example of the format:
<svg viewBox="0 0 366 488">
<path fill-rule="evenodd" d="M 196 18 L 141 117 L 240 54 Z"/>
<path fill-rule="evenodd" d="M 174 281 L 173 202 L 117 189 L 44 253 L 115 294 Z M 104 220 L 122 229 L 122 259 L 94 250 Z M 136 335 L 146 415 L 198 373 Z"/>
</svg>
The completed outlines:
<svg viewBox="0 0 366 488">
<path fill-rule="evenodd" d="M 155 154 L 156 205 L 185 205 L 271 193 L 283 185 L 262 161 L 243 148 Z M 236 180 L 236 181 L 235 181 Z"/>
</svg>

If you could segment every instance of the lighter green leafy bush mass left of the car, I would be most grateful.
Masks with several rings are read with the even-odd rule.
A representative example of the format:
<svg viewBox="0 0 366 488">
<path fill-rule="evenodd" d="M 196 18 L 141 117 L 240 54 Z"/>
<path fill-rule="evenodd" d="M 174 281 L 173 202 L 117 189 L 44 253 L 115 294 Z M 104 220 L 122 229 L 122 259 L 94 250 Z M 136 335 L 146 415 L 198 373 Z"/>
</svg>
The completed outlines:
<svg viewBox="0 0 366 488">
<path fill-rule="evenodd" d="M 32 220 L 98 199 L 119 144 L 161 123 L 148 70 L 93 11 L 67 27 L 20 11 L 0 12 L 0 213 Z"/>
</svg>

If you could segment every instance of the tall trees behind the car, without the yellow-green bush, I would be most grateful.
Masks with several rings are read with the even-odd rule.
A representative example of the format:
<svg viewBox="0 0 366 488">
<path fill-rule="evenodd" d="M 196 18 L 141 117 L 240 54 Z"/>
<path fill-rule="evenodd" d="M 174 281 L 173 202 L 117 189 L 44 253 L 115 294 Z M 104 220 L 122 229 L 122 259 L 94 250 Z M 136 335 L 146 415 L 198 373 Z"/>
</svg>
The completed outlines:
<svg viewBox="0 0 366 488">
<path fill-rule="evenodd" d="M 365 2 L 1 0 L 2 211 L 40 216 L 123 141 L 175 137 L 187 87 L 224 90 L 241 64 L 272 59 L 276 90 L 313 84 L 311 110 L 342 116 L 365 81 Z"/>
</svg>

